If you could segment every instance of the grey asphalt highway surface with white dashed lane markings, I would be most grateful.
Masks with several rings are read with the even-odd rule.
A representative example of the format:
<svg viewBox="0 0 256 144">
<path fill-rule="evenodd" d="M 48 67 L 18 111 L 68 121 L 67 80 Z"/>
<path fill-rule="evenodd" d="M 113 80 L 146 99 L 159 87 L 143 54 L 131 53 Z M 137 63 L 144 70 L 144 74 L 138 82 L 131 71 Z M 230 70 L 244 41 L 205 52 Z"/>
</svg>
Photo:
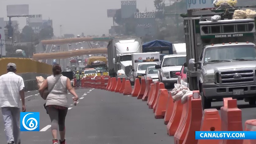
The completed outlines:
<svg viewBox="0 0 256 144">
<path fill-rule="evenodd" d="M 136 97 L 123 96 L 99 89 L 76 89 L 80 97 L 77 106 L 70 105 L 66 117 L 67 144 L 173 144 L 173 137 L 166 134 L 163 119 L 155 119 L 146 102 Z M 26 93 L 27 112 L 40 112 L 40 131 L 21 132 L 22 144 L 50 144 L 51 123 L 43 100 L 37 91 Z M 245 104 L 238 101 L 238 104 Z M 216 108 L 221 102 L 214 102 Z M 242 107 L 242 121 L 255 119 L 255 108 Z M 59 137 L 58 137 L 59 138 Z M 2 115 L 0 139 L 5 142 Z"/>
</svg>

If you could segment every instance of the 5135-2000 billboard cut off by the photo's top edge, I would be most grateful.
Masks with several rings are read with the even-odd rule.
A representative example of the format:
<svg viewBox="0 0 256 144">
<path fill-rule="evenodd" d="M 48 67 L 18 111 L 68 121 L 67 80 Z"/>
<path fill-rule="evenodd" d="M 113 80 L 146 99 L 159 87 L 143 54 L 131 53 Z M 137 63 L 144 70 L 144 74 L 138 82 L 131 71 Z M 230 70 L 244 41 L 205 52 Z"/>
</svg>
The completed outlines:
<svg viewBox="0 0 256 144">
<path fill-rule="evenodd" d="M 130 18 L 137 12 L 137 1 L 121 1 L 121 17 Z"/>
</svg>

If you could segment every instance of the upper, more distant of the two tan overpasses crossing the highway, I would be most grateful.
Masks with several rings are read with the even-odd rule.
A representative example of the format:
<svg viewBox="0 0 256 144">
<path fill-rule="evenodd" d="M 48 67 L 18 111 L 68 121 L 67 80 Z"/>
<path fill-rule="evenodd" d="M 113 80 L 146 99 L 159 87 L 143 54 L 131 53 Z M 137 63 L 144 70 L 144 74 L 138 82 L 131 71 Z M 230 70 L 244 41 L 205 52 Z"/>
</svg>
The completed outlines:
<svg viewBox="0 0 256 144">
<path fill-rule="evenodd" d="M 80 38 L 69 38 L 69 39 L 58 39 L 58 40 L 41 40 L 42 44 L 71 44 L 83 41 L 106 41 L 109 42 L 115 37 L 80 37 Z"/>
</svg>

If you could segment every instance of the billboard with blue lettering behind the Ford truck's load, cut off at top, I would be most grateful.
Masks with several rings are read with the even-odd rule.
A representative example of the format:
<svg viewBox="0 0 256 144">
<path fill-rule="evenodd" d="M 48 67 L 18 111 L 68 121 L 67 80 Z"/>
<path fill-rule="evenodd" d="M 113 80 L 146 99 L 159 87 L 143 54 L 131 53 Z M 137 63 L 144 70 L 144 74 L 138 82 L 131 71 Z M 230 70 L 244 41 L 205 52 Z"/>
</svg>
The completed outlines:
<svg viewBox="0 0 256 144">
<path fill-rule="evenodd" d="M 214 8 L 214 0 L 187 0 L 187 9 Z M 255 0 L 240 0 L 236 6 L 254 6 Z"/>
</svg>

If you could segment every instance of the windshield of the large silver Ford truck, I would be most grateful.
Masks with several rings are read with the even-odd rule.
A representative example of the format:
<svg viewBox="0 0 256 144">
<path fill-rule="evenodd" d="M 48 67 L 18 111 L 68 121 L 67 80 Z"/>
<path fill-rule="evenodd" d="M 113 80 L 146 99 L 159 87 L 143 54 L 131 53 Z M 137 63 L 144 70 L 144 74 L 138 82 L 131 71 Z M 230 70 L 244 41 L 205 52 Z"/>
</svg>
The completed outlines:
<svg viewBox="0 0 256 144">
<path fill-rule="evenodd" d="M 222 62 L 231 60 L 256 60 L 254 45 L 231 45 L 221 47 L 208 47 L 205 50 L 204 63 Z"/>
</svg>

